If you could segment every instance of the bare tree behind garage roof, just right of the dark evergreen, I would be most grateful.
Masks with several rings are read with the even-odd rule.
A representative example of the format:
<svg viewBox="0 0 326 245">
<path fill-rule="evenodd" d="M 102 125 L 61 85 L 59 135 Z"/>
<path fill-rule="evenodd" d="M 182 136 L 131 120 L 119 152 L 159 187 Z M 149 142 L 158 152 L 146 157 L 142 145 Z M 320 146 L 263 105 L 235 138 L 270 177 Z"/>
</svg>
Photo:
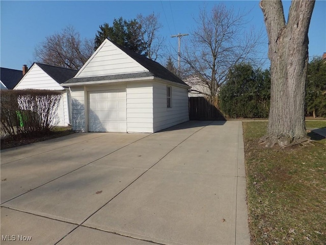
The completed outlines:
<svg viewBox="0 0 326 245">
<path fill-rule="evenodd" d="M 146 43 L 146 54 L 151 60 L 156 61 L 160 55 L 160 48 L 163 45 L 164 38 L 162 38 L 158 31 L 162 28 L 162 24 L 158 21 L 159 15 L 154 13 L 143 16 L 142 14 L 137 15 L 137 19 L 142 26 L 142 39 Z"/>
</svg>

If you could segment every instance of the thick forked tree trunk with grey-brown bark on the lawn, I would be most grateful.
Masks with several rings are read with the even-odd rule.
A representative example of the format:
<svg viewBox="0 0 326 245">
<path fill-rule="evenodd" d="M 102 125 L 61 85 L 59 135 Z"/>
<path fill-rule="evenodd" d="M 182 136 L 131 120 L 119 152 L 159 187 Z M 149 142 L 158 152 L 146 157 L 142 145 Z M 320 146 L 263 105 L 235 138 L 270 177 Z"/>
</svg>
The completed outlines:
<svg viewBox="0 0 326 245">
<path fill-rule="evenodd" d="M 292 1 L 285 22 L 281 1 L 261 1 L 268 35 L 270 110 L 266 146 L 285 146 L 307 139 L 305 92 L 308 65 L 308 29 L 314 1 Z"/>
</svg>

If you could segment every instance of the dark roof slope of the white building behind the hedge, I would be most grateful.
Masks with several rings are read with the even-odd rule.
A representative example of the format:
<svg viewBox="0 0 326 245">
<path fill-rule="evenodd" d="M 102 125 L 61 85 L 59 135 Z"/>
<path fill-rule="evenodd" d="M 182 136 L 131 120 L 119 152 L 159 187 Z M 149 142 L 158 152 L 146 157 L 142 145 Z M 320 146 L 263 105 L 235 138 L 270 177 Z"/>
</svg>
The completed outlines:
<svg viewBox="0 0 326 245">
<path fill-rule="evenodd" d="M 73 78 L 78 72 L 78 70 L 63 68 L 54 65 L 46 65 L 41 63 L 35 64 L 37 64 L 42 70 L 47 73 L 47 75 L 56 80 L 59 84 L 62 84 L 67 80 Z"/>
</svg>

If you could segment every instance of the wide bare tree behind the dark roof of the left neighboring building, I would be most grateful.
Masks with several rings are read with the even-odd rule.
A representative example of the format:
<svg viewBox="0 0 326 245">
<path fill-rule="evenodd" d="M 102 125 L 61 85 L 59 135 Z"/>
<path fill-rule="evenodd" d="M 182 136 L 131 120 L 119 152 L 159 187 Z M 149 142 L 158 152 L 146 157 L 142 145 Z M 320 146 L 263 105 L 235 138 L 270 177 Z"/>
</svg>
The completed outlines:
<svg viewBox="0 0 326 245">
<path fill-rule="evenodd" d="M 34 57 L 40 63 L 80 69 L 91 57 L 93 48 L 93 40 L 80 38 L 80 34 L 68 26 L 36 46 Z"/>
</svg>

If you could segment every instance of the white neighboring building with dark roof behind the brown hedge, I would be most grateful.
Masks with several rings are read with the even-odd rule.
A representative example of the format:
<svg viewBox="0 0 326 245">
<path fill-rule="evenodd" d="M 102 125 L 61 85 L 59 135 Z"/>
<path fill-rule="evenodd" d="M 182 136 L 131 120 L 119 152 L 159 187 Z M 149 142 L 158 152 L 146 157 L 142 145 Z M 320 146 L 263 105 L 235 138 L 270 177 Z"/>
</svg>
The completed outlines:
<svg viewBox="0 0 326 245">
<path fill-rule="evenodd" d="M 62 90 L 62 98 L 58 108 L 58 126 L 70 125 L 70 95 L 69 88 L 63 83 L 77 74 L 78 70 L 33 63 L 24 77 L 14 89 L 49 89 Z"/>
</svg>

